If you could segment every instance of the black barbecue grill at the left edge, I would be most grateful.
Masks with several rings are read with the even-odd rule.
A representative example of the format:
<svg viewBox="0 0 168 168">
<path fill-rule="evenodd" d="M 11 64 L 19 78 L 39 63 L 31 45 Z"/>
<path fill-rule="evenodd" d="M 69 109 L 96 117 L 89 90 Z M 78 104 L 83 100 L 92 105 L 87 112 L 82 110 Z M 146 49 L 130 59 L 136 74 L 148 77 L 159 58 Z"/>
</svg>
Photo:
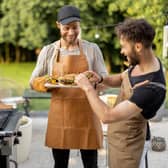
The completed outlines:
<svg viewBox="0 0 168 168">
<path fill-rule="evenodd" d="M 9 168 L 10 162 L 17 168 L 17 162 L 10 159 L 13 145 L 19 143 L 19 119 L 22 113 L 17 109 L 0 109 L 0 167 Z"/>
</svg>

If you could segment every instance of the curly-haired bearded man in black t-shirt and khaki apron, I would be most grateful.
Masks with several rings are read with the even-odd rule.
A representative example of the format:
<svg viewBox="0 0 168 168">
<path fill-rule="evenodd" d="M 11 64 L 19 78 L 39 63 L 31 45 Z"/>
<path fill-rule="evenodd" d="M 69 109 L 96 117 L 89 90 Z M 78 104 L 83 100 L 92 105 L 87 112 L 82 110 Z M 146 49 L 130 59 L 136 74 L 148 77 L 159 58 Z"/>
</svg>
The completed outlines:
<svg viewBox="0 0 168 168">
<path fill-rule="evenodd" d="M 131 65 L 121 74 L 94 76 L 92 81 L 121 86 L 115 106 L 103 103 L 84 74 L 75 82 L 82 88 L 94 113 L 109 123 L 110 168 L 138 168 L 146 137 L 147 120 L 164 101 L 166 89 L 162 65 L 152 51 L 155 31 L 144 19 L 130 19 L 116 27 L 121 54 Z M 88 73 L 88 72 L 87 72 Z"/>
</svg>

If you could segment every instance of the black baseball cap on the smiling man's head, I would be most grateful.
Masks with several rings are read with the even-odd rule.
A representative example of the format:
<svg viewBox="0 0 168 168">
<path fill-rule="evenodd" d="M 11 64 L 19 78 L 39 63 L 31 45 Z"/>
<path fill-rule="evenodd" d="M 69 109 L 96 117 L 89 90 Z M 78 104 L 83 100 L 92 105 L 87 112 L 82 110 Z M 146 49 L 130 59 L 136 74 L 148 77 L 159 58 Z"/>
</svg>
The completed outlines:
<svg viewBox="0 0 168 168">
<path fill-rule="evenodd" d="M 80 21 L 80 11 L 74 6 L 65 5 L 58 11 L 57 21 L 63 25 Z"/>
</svg>

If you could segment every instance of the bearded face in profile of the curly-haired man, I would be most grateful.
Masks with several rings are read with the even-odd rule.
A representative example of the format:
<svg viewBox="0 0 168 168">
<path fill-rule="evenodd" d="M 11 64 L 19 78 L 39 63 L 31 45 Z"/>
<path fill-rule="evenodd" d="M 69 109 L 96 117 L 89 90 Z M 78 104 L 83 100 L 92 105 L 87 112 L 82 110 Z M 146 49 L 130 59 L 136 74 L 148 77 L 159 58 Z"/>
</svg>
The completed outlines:
<svg viewBox="0 0 168 168">
<path fill-rule="evenodd" d="M 120 38 L 121 54 L 127 58 L 129 65 L 139 64 L 139 54 L 135 49 L 135 43 L 127 41 L 125 38 Z"/>
</svg>

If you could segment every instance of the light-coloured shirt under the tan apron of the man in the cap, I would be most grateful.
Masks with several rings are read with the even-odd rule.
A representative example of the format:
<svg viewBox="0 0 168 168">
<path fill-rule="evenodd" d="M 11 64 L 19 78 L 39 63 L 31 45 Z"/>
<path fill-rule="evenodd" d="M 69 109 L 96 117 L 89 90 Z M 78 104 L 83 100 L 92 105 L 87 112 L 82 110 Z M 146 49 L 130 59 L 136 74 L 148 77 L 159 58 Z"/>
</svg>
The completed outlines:
<svg viewBox="0 0 168 168">
<path fill-rule="evenodd" d="M 47 46 L 44 46 L 38 56 L 38 60 L 36 63 L 36 67 L 32 73 L 30 81 L 33 80 L 35 77 L 44 76 L 44 75 L 51 75 L 52 72 L 52 65 L 54 60 L 54 50 L 55 46 L 57 45 L 58 41 L 51 43 Z M 81 46 L 83 49 L 84 54 L 86 55 L 86 59 L 88 61 L 89 70 L 92 70 L 99 75 L 106 76 L 107 70 L 105 67 L 104 59 L 102 52 L 97 44 L 88 42 L 86 40 L 81 40 Z M 64 48 L 60 48 L 60 55 L 79 55 L 80 51 L 79 48 L 74 50 L 66 50 Z"/>
</svg>

